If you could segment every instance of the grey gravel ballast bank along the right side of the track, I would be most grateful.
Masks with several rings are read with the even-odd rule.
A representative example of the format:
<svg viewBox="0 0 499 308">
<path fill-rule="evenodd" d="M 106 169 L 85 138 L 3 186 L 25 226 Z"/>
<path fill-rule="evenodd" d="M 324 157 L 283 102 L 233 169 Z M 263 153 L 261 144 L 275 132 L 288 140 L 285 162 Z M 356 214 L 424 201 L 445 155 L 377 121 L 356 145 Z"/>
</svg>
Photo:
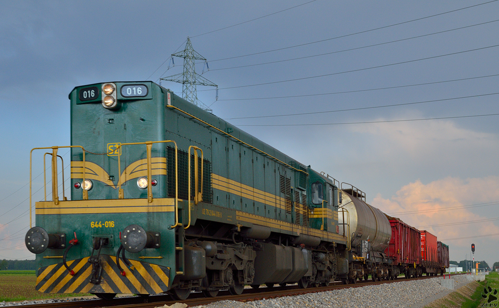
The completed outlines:
<svg viewBox="0 0 499 308">
<path fill-rule="evenodd" d="M 253 302 L 221 301 L 196 308 L 304 308 L 304 307 L 411 307 L 422 308 L 452 290 L 440 286 L 435 277 L 423 280 L 332 290 Z M 448 279 L 448 278 L 447 278 Z M 468 283 L 466 275 L 452 277 L 454 289 Z M 431 300 L 431 301 L 429 301 Z"/>
</svg>

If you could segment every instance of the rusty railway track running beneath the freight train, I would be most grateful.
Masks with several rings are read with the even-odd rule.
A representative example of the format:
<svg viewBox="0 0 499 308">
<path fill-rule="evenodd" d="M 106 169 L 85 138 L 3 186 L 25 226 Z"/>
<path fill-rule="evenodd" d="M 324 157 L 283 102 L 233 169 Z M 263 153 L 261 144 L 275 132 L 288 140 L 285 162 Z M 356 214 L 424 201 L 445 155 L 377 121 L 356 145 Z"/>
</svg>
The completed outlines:
<svg viewBox="0 0 499 308">
<path fill-rule="evenodd" d="M 451 276 L 462 275 L 462 274 L 451 274 Z M 449 274 L 446 275 L 448 277 Z M 440 276 L 441 277 L 441 276 Z M 185 301 L 172 300 L 169 295 L 154 295 L 149 297 L 127 297 L 127 298 L 115 298 L 110 301 L 105 300 L 84 300 L 84 301 L 74 301 L 74 302 L 62 302 L 62 303 L 47 303 L 47 304 L 34 304 L 34 305 L 22 305 L 22 308 L 104 308 L 104 307 L 115 307 L 115 308 L 154 308 L 162 307 L 164 305 L 173 305 L 175 303 L 185 303 L 189 307 L 194 307 L 198 305 L 208 305 L 210 303 L 230 300 L 230 301 L 257 301 L 262 299 L 272 299 L 283 296 L 296 296 L 307 293 L 324 292 L 330 290 L 346 289 L 346 288 L 359 288 L 365 286 L 390 284 L 396 282 L 404 281 L 414 281 L 434 278 L 430 276 L 424 276 L 420 278 L 413 279 L 397 279 L 389 281 L 367 281 L 367 282 L 357 282 L 356 284 L 343 285 L 341 282 L 331 283 L 327 287 L 318 288 L 307 288 L 300 289 L 297 285 L 291 285 L 286 287 L 273 287 L 273 288 L 259 288 L 251 289 L 247 288 L 243 294 L 239 296 L 233 296 L 228 290 L 220 291 L 219 295 L 215 298 L 206 298 L 203 293 L 197 292 L 192 293 L 189 299 Z"/>
</svg>

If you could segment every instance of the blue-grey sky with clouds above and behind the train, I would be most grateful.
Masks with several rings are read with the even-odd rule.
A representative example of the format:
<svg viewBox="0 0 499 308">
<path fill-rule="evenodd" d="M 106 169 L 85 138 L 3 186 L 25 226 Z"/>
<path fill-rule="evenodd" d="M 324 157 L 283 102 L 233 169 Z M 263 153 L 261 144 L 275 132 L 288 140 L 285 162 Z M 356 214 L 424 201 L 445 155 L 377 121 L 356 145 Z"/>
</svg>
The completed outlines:
<svg viewBox="0 0 499 308">
<path fill-rule="evenodd" d="M 215 115 L 435 234 L 451 260 L 475 243 L 492 266 L 498 12 L 498 0 L 2 1 L 0 258 L 34 259 L 29 152 L 70 145 L 71 90 L 151 80 L 182 95 L 160 78 L 182 73 L 171 54 L 190 37 L 208 62 L 197 73 L 218 85 L 218 98 L 197 88 Z"/>
</svg>

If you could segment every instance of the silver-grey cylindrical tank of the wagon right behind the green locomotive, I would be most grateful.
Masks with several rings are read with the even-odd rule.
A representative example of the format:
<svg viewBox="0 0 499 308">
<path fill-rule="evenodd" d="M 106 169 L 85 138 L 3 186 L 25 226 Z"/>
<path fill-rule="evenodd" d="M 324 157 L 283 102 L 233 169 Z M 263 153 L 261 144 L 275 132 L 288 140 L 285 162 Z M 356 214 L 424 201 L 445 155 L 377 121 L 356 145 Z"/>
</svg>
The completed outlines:
<svg viewBox="0 0 499 308">
<path fill-rule="evenodd" d="M 338 212 L 339 233 L 343 234 L 343 226 L 345 234 L 350 233 L 352 251 L 357 251 L 362 257 L 371 251 L 384 252 L 392 235 L 390 221 L 385 214 L 343 190 L 341 196 L 339 207 L 348 210 L 349 215 L 341 210 Z M 343 220 L 348 222 L 350 230 L 348 225 L 343 225 Z M 369 249 L 361 249 L 363 241 L 369 241 Z"/>
</svg>

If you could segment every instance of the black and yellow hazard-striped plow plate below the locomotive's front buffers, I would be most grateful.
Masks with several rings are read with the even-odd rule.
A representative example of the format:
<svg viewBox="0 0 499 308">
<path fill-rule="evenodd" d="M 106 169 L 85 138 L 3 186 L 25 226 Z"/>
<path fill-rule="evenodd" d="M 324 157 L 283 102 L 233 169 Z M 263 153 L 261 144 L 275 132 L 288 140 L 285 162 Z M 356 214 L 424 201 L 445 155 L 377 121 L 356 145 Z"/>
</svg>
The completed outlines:
<svg viewBox="0 0 499 308">
<path fill-rule="evenodd" d="M 100 284 L 90 283 L 92 265 L 88 257 L 66 262 L 75 275 L 71 276 L 62 263 L 38 270 L 36 290 L 43 293 L 122 293 L 157 294 L 168 290 L 170 268 L 129 260 L 134 269 L 128 269 L 120 259 L 126 275 L 122 276 L 116 258 L 101 255 L 102 275 Z"/>
</svg>

